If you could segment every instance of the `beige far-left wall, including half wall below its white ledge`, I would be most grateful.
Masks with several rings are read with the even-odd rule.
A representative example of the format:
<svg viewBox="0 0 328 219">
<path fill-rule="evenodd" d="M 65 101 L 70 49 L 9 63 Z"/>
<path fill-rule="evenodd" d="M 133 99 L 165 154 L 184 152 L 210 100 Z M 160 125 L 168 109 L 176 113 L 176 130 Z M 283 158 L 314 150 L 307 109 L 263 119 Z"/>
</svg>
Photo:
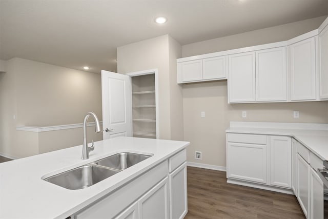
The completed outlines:
<svg viewBox="0 0 328 219">
<path fill-rule="evenodd" d="M 37 134 L 16 131 L 17 126 L 82 123 L 89 111 L 101 120 L 100 74 L 22 58 L 6 65 L 7 72 L 0 73 L 0 154 L 19 158 L 83 142 L 81 128 Z M 102 139 L 101 133 L 94 135 L 91 130 L 89 142 Z"/>
</svg>

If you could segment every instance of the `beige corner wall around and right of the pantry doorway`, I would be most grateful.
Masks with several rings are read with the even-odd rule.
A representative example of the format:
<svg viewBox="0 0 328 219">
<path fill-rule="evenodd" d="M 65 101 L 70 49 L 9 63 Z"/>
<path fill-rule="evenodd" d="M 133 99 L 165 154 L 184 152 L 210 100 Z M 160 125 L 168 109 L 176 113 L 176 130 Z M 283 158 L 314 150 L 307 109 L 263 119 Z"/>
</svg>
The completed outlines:
<svg viewBox="0 0 328 219">
<path fill-rule="evenodd" d="M 182 116 L 177 120 L 171 117 L 182 115 L 182 90 L 176 84 L 176 58 L 180 54 L 180 45 L 169 35 L 117 48 L 118 73 L 158 69 L 159 138 L 161 139 L 172 139 L 172 137 L 183 139 Z M 174 63 L 173 60 L 175 60 Z M 173 102 L 180 104 L 174 105 Z M 173 127 L 181 127 L 173 134 L 174 136 L 172 135 Z"/>
</svg>

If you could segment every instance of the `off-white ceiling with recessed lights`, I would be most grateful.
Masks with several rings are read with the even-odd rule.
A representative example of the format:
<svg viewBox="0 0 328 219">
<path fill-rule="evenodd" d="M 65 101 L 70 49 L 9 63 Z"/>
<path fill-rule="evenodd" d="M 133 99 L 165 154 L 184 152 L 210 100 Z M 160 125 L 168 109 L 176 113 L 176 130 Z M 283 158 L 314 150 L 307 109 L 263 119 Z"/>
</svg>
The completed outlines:
<svg viewBox="0 0 328 219">
<path fill-rule="evenodd" d="M 116 71 L 116 48 L 144 39 L 186 45 L 326 14 L 328 0 L 0 0 L 0 59 Z"/>
</svg>

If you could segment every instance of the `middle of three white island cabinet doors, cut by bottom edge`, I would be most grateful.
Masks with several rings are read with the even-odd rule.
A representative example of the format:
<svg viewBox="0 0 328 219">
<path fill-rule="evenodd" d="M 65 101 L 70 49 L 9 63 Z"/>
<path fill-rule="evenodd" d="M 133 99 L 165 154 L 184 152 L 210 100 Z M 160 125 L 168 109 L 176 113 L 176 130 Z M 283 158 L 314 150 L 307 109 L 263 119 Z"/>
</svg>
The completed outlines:
<svg viewBox="0 0 328 219">
<path fill-rule="evenodd" d="M 139 218 L 169 218 L 169 178 L 166 177 L 139 200 Z"/>
</svg>

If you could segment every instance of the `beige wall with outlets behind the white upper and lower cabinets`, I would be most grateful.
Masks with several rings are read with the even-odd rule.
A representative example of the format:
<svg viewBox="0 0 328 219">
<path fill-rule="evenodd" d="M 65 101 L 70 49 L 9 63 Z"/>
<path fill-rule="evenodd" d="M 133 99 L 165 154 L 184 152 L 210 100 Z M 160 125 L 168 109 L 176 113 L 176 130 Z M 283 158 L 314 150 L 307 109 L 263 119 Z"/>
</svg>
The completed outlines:
<svg viewBox="0 0 328 219">
<path fill-rule="evenodd" d="M 274 43 L 319 27 L 325 17 L 313 18 L 233 36 L 182 46 L 182 56 Z M 226 133 L 230 121 L 328 123 L 328 102 L 228 104 L 227 81 L 185 84 L 183 88 L 183 128 L 189 162 L 226 166 Z M 293 118 L 293 110 L 300 112 Z M 200 112 L 206 117 L 201 118 Z M 241 117 L 247 111 L 247 118 Z M 202 152 L 196 160 L 195 151 Z"/>
</svg>

